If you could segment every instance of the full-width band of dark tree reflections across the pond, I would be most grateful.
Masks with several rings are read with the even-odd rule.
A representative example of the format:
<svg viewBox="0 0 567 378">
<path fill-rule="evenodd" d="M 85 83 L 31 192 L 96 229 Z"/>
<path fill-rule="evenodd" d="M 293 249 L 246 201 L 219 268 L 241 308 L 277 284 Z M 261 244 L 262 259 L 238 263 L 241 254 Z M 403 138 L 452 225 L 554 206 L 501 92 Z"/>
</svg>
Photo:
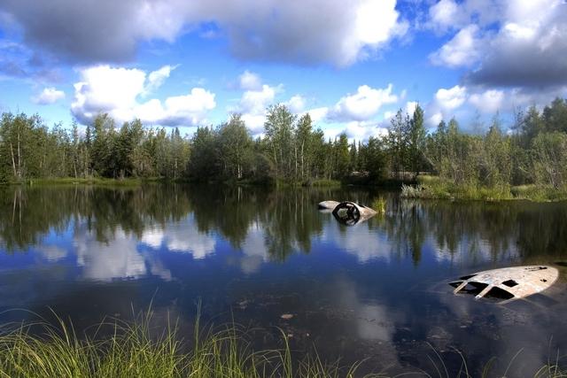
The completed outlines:
<svg viewBox="0 0 567 378">
<path fill-rule="evenodd" d="M 255 233 L 254 248 L 263 244 L 257 256 L 284 260 L 295 251 L 311 251 L 314 239 L 327 231 L 341 237 L 361 235 L 343 227 L 331 230 L 334 220 L 317 212 L 315 204 L 329 198 L 369 204 L 371 194 L 360 189 L 158 184 L 128 189 L 4 187 L 0 238 L 6 251 L 25 250 L 43 235 L 65 231 L 74 221 L 86 225 L 82 227 L 98 242 L 112 241 L 119 231 L 143 239 L 156 227 L 171 228 L 171 223 L 182 227 L 180 222 L 192 213 L 192 221 L 183 227 L 214 232 L 241 251 L 247 236 Z M 390 195 L 384 215 L 356 227 L 384 235 L 393 256 L 411 258 L 416 265 L 427 243 L 450 260 L 557 257 L 566 253 L 567 204 L 408 201 Z M 369 243 L 377 243 L 376 238 Z"/>
</svg>

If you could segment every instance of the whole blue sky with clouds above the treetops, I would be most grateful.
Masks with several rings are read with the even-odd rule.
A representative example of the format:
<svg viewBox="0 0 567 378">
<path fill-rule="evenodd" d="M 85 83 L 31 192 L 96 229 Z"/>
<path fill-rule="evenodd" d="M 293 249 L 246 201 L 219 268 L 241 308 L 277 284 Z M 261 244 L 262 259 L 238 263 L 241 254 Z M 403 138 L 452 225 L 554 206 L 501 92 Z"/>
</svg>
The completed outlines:
<svg viewBox="0 0 567 378">
<path fill-rule="evenodd" d="M 0 112 L 220 125 L 309 112 L 332 138 L 485 130 L 567 97 L 566 0 L 0 0 Z"/>
</svg>

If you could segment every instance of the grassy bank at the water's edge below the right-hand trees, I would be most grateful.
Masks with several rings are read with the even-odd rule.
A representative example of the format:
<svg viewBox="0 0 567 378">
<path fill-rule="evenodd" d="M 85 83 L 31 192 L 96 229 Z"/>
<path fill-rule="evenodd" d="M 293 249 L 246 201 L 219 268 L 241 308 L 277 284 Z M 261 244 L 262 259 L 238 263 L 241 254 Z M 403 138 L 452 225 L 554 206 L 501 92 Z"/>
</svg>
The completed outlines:
<svg viewBox="0 0 567 378">
<path fill-rule="evenodd" d="M 437 176 L 423 175 L 416 185 L 402 185 L 401 197 L 454 200 L 502 201 L 524 199 L 536 202 L 567 200 L 567 188 L 555 189 L 538 185 L 510 187 L 501 185 L 486 188 L 475 184 L 457 185 Z"/>
</svg>

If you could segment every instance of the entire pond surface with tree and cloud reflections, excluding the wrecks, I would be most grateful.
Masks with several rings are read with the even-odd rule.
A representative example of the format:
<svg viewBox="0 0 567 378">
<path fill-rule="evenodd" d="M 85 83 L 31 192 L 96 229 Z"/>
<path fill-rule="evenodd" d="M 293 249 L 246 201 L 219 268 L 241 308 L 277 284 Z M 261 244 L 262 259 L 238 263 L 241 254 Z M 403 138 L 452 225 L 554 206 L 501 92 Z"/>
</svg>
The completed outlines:
<svg viewBox="0 0 567 378">
<path fill-rule="evenodd" d="M 387 212 L 350 228 L 316 208 L 379 195 Z M 524 376 L 567 350 L 567 204 L 416 202 L 369 189 L 4 188 L 0 241 L 4 322 L 52 308 L 86 328 L 151 303 L 154 320 L 190 333 L 200 302 L 206 322 L 260 330 L 259 346 L 281 346 L 282 328 L 296 351 L 315 345 L 323 359 L 367 359 L 392 374 L 437 375 L 439 353 L 454 375 L 457 350 L 471 373 L 495 358 L 494 374 L 511 365 L 509 376 Z M 553 288 L 509 305 L 447 285 L 556 263 Z"/>
</svg>

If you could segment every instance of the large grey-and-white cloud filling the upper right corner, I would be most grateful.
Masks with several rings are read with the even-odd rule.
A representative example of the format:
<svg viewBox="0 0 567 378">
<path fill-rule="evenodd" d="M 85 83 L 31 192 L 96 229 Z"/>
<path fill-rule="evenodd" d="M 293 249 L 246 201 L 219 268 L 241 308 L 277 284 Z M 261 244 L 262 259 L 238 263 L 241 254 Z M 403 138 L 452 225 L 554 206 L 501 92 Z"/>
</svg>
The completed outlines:
<svg viewBox="0 0 567 378">
<path fill-rule="evenodd" d="M 447 14 L 464 15 L 469 24 L 431 54 L 433 63 L 470 67 L 465 81 L 471 85 L 538 89 L 567 83 L 567 6 L 562 0 L 484 0 L 476 7 L 470 1 L 442 3 L 430 9 L 432 24 L 444 25 L 446 13 L 437 12 L 444 6 Z"/>
</svg>

